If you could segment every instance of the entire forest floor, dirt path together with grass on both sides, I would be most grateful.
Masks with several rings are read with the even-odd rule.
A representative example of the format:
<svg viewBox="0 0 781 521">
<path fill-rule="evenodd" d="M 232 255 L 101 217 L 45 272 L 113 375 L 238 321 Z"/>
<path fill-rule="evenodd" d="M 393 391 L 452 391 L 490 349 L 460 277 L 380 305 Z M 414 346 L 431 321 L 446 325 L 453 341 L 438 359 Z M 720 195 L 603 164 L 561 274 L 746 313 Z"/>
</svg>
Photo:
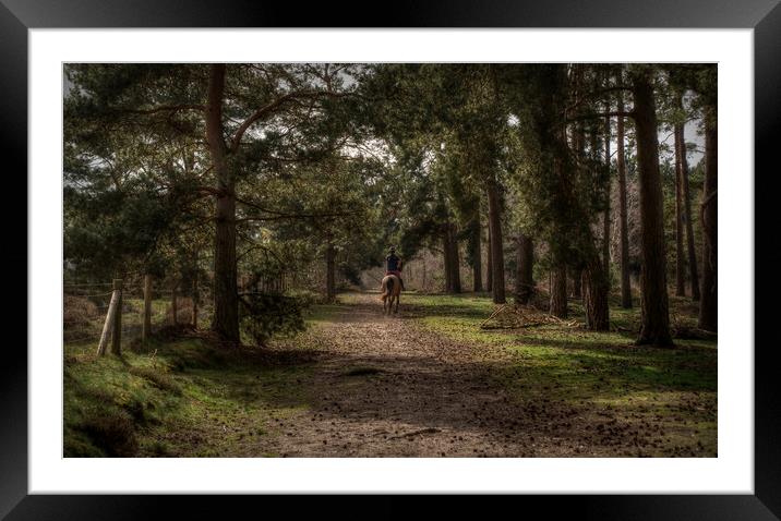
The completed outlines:
<svg viewBox="0 0 781 521">
<path fill-rule="evenodd" d="M 240 355 L 194 332 L 122 359 L 65 346 L 65 456 L 717 456 L 714 339 L 638 348 L 639 310 L 618 307 L 610 332 L 481 329 L 493 308 L 405 294 L 385 316 L 345 293 Z M 697 337 L 696 308 L 672 308 Z"/>
</svg>

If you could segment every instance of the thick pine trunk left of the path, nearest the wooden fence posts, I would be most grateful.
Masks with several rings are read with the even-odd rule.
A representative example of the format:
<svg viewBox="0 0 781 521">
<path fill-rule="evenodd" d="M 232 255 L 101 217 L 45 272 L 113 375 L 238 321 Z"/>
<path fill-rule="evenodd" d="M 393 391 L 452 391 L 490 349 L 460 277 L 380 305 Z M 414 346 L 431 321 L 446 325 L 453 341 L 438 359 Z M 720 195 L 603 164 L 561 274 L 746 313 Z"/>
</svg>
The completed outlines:
<svg viewBox="0 0 781 521">
<path fill-rule="evenodd" d="M 236 179 L 228 165 L 223 129 L 224 63 L 209 69 L 206 106 L 206 143 L 217 178 L 214 241 L 214 319 L 212 329 L 221 340 L 239 341 L 239 295 L 236 268 Z"/>
</svg>

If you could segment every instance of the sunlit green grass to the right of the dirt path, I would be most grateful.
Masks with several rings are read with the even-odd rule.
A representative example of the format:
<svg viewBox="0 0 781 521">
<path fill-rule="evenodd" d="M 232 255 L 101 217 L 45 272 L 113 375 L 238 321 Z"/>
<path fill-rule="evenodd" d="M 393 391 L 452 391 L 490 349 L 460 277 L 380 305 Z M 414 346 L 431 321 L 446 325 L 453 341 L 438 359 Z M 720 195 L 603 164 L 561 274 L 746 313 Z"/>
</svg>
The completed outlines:
<svg viewBox="0 0 781 521">
<path fill-rule="evenodd" d="M 617 304 L 617 303 L 615 303 Z M 519 401 L 546 407 L 599 411 L 638 428 L 658 428 L 659 447 L 644 451 L 670 456 L 662 448 L 692 456 L 717 452 L 716 339 L 675 338 L 676 349 L 635 347 L 639 308 L 611 306 L 612 331 L 544 325 L 519 329 L 481 329 L 494 310 L 481 295 L 407 295 L 406 310 L 422 327 L 459 342 L 501 349 L 513 355 L 494 378 Z M 582 320 L 573 302 L 572 318 Z M 696 307 L 671 298 L 673 329 L 696 327 Z M 588 414 L 588 412 L 587 412 Z M 659 450 L 656 450 L 658 448 Z"/>
</svg>

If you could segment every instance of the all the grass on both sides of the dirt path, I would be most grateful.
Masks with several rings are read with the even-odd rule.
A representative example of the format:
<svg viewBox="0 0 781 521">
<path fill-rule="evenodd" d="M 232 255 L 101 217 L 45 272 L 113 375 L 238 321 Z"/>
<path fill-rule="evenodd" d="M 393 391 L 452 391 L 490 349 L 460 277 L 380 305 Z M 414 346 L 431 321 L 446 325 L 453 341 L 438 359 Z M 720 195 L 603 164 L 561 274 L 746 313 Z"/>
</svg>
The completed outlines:
<svg viewBox="0 0 781 521">
<path fill-rule="evenodd" d="M 94 339 L 68 341 L 64 456 L 277 456 L 268 447 L 284 435 L 278 422 L 305 413 L 314 399 L 313 365 L 297 356 L 319 349 L 317 327 L 349 313 L 359 299 L 345 293 L 335 304 L 313 306 L 307 313 L 313 330 L 280 342 L 288 358 L 227 351 L 195 336 L 128 342 L 121 358 L 96 356 Z M 157 319 L 166 305 L 155 302 Z M 627 456 L 716 456 L 714 338 L 676 338 L 676 349 L 635 347 L 639 310 L 617 305 L 606 332 L 566 325 L 481 329 L 493 310 L 486 294 L 411 293 L 401 303 L 402 316 L 419 327 L 478 353 L 507 354 L 491 378 L 531 411 L 577 411 L 594 436 L 616 428 L 608 415 L 628 429 L 624 435 L 654 433 L 651 446 Z M 671 316 L 676 330 L 696 326 L 696 308 L 685 299 L 671 298 Z M 582 319 L 578 302 L 570 302 L 570 317 Z M 348 366 L 344 376 L 357 381 L 381 371 Z"/>
</svg>

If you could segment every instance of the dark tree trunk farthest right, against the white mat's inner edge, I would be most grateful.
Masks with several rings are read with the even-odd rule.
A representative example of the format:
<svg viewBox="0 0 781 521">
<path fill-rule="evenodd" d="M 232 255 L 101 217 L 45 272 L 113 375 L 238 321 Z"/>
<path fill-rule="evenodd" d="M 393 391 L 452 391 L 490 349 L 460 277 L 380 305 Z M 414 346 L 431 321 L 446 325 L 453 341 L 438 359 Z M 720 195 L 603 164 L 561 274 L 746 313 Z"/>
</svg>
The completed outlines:
<svg viewBox="0 0 781 521">
<path fill-rule="evenodd" d="M 699 327 L 716 331 L 718 327 L 717 292 L 717 187 L 718 130 L 716 109 L 705 113 L 705 189 L 702 190 L 702 288 L 699 303 Z"/>
</svg>

